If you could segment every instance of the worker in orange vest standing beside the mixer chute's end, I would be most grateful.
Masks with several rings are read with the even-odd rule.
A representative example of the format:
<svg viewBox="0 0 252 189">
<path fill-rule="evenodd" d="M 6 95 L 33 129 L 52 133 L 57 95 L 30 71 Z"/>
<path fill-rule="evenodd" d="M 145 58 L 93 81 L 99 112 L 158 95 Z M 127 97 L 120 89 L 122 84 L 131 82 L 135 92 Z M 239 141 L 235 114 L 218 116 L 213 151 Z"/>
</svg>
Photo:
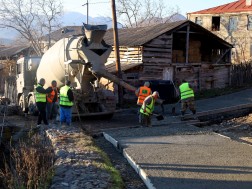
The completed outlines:
<svg viewBox="0 0 252 189">
<path fill-rule="evenodd" d="M 136 91 L 135 94 L 138 97 L 137 98 L 137 105 L 139 105 L 139 111 L 138 111 L 138 120 L 139 123 L 141 123 L 141 114 L 140 114 L 140 108 L 143 105 L 143 101 L 147 96 L 151 95 L 151 89 L 150 89 L 150 82 L 146 81 L 144 82 L 144 86 L 139 87 Z"/>
</svg>

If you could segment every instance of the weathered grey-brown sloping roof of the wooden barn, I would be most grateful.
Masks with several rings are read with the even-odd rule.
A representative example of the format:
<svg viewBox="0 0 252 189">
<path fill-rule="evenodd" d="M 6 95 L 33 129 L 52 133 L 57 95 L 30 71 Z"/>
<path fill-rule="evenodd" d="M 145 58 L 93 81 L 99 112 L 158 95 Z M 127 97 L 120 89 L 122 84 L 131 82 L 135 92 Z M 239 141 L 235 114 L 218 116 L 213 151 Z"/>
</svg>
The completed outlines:
<svg viewBox="0 0 252 189">
<path fill-rule="evenodd" d="M 148 41 L 168 32 L 176 27 L 188 22 L 188 20 L 182 20 L 171 23 L 162 23 L 153 26 L 139 27 L 139 28 L 126 28 L 119 29 L 119 45 L 120 46 L 138 46 L 147 43 Z M 113 45 L 113 30 L 109 29 L 104 37 L 107 44 Z"/>
</svg>

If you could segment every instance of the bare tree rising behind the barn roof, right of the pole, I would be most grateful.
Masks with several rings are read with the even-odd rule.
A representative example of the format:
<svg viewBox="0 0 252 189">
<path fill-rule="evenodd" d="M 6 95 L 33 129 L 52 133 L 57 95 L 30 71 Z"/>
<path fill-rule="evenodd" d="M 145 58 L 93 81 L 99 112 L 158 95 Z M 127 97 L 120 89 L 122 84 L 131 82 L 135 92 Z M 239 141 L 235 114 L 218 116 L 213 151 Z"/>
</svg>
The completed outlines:
<svg viewBox="0 0 252 189">
<path fill-rule="evenodd" d="M 166 8 L 163 0 L 118 0 L 117 14 L 126 27 L 169 22 L 179 8 Z"/>
</svg>

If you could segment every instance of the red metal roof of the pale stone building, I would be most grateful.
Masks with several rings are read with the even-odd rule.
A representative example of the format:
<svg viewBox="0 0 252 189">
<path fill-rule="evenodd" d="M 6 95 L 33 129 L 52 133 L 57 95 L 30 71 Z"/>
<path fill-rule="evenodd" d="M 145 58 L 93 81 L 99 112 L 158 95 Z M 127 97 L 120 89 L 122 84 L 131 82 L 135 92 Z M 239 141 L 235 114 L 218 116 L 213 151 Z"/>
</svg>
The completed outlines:
<svg viewBox="0 0 252 189">
<path fill-rule="evenodd" d="M 239 0 L 217 7 L 204 9 L 188 14 L 220 14 L 220 13 L 235 13 L 235 12 L 249 12 L 252 11 L 252 5 L 246 6 L 246 0 Z"/>
</svg>

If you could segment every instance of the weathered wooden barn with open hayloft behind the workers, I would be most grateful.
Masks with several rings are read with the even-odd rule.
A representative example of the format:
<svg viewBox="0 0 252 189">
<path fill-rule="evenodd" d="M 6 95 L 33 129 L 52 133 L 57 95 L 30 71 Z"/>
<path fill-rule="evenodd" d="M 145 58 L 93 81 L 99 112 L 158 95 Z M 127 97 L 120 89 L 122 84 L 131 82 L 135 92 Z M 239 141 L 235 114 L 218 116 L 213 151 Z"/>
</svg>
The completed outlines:
<svg viewBox="0 0 252 189">
<path fill-rule="evenodd" d="M 134 86 L 146 80 L 179 84 L 182 79 L 196 90 L 230 84 L 232 45 L 189 20 L 119 29 L 118 35 L 123 79 Z M 104 39 L 113 46 L 113 31 Z M 106 67 L 116 72 L 114 51 Z"/>
</svg>

